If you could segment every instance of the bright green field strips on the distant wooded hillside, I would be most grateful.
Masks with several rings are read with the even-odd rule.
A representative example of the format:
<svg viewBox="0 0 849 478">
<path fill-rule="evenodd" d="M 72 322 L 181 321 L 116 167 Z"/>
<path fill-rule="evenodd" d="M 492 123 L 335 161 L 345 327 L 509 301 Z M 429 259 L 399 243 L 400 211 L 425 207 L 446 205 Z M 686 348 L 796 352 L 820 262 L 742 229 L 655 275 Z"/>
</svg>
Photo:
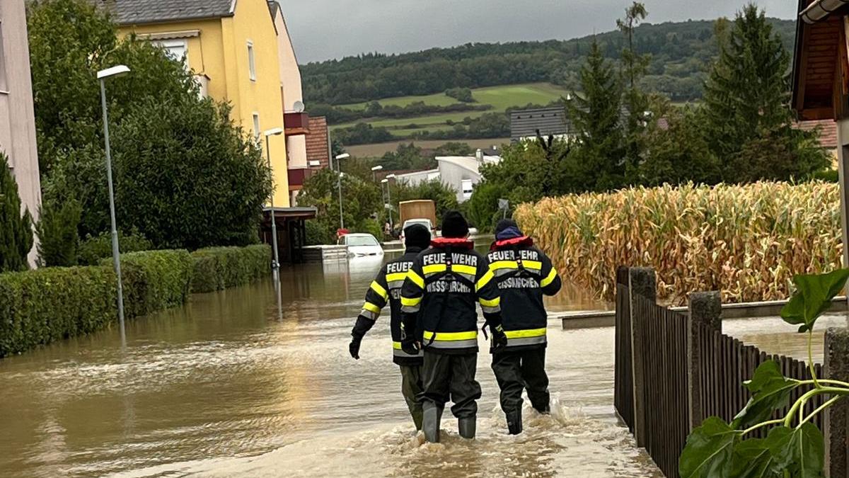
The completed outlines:
<svg viewBox="0 0 849 478">
<path fill-rule="evenodd" d="M 565 89 L 554 86 L 550 83 L 525 83 L 517 85 L 503 85 L 489 88 L 477 88 L 472 90 L 472 96 L 476 100 L 476 105 L 491 105 L 492 109 L 488 111 L 460 111 L 456 113 L 440 113 L 436 115 L 425 115 L 421 117 L 409 118 L 390 118 L 374 120 L 361 120 L 358 122 L 368 122 L 372 126 L 390 128 L 391 133 L 396 136 L 407 136 L 417 131 L 436 131 L 439 129 L 451 128 L 446 124 L 447 121 L 462 122 L 465 117 L 480 117 L 487 112 L 503 112 L 510 106 L 523 106 L 529 103 L 537 105 L 547 105 L 552 100 L 558 100 L 566 94 Z M 414 101 L 424 101 L 426 105 L 453 105 L 458 103 L 457 100 L 447 96 L 446 94 L 428 94 L 426 96 L 400 96 L 397 98 L 387 98 L 380 100 L 381 105 L 409 105 Z M 354 103 L 351 105 L 340 105 L 343 108 L 351 110 L 363 109 L 365 103 Z M 353 126 L 357 122 L 348 122 L 343 124 L 332 125 L 331 128 L 346 128 Z M 419 128 L 405 128 L 409 124 L 416 124 Z"/>
</svg>

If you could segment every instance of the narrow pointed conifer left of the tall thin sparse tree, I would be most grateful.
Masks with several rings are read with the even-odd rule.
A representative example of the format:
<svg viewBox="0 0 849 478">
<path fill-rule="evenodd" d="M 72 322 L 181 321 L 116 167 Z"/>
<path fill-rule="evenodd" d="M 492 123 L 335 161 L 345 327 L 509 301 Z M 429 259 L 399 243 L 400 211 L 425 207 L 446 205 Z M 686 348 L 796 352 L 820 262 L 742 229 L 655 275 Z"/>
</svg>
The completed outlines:
<svg viewBox="0 0 849 478">
<path fill-rule="evenodd" d="M 588 190 L 608 191 L 625 184 L 622 148 L 621 87 L 613 67 L 593 42 L 580 71 L 582 94 L 572 94 L 566 112 L 577 130 L 572 154 L 578 164 L 593 171 Z"/>
</svg>

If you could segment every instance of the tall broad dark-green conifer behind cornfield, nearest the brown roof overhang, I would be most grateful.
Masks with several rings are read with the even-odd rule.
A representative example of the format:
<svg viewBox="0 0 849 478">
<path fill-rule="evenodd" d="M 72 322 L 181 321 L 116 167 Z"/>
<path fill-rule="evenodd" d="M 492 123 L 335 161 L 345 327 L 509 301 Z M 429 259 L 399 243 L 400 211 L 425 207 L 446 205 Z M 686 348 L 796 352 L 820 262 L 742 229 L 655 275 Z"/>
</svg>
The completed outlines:
<svg viewBox="0 0 849 478">
<path fill-rule="evenodd" d="M 814 133 L 791 128 L 790 55 L 764 12 L 746 5 L 728 37 L 719 38 L 719 58 L 705 85 L 704 120 L 722 179 L 790 179 L 823 168 L 825 155 L 811 151 Z"/>
</svg>

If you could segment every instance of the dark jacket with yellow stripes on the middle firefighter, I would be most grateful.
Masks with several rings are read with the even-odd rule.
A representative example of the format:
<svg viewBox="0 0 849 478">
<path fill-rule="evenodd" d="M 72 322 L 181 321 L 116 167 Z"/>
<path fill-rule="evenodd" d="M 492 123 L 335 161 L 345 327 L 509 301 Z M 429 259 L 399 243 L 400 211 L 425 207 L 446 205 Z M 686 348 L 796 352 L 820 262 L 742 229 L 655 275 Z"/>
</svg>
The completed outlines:
<svg viewBox="0 0 849 478">
<path fill-rule="evenodd" d="M 501 298 L 486 257 L 465 239 L 438 238 L 413 261 L 401 291 L 405 331 L 443 354 L 477 352 L 477 310 L 501 323 Z"/>
</svg>

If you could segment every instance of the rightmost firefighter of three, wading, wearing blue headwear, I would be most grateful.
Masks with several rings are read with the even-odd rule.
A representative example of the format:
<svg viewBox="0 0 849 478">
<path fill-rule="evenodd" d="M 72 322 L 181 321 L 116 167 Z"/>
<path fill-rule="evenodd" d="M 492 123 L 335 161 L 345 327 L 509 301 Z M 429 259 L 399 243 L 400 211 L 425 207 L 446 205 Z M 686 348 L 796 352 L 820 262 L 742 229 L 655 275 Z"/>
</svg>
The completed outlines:
<svg viewBox="0 0 849 478">
<path fill-rule="evenodd" d="M 501 293 L 501 313 L 507 346 L 494 350 L 492 371 L 501 388 L 501 409 L 511 435 L 522 431 L 522 390 L 539 413 L 549 413 L 548 375 L 545 373 L 548 316 L 543 295 L 560 290 L 560 277 L 551 259 L 534 247 L 533 239 L 513 219 L 495 228 L 496 241 L 487 254 Z"/>
</svg>

